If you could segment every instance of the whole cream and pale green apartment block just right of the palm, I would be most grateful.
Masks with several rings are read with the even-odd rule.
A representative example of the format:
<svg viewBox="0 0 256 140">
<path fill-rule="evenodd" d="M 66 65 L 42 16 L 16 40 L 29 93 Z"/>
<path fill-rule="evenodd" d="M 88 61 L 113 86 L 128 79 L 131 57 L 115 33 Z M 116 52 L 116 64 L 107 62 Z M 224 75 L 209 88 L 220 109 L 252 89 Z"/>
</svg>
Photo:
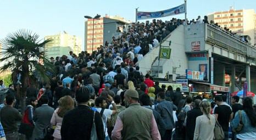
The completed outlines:
<svg viewBox="0 0 256 140">
<path fill-rule="evenodd" d="M 67 32 L 59 32 L 57 35 L 45 36 L 44 40 L 52 39 L 53 41 L 46 44 L 48 49 L 48 57 L 57 57 L 62 53 L 69 54 L 69 51 L 73 51 L 78 55 L 82 50 L 81 38 L 73 35 L 69 35 Z"/>
</svg>

